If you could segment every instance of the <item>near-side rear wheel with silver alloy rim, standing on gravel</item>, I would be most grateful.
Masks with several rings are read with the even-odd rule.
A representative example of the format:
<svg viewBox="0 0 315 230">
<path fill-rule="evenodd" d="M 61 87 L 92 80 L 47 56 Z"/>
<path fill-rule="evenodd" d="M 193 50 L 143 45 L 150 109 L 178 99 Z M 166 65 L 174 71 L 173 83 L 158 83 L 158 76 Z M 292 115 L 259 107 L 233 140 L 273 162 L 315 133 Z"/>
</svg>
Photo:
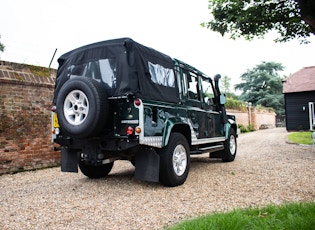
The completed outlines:
<svg viewBox="0 0 315 230">
<path fill-rule="evenodd" d="M 174 187 L 186 181 L 190 168 L 189 146 L 181 133 L 172 133 L 167 146 L 158 149 L 160 182 Z"/>
</svg>

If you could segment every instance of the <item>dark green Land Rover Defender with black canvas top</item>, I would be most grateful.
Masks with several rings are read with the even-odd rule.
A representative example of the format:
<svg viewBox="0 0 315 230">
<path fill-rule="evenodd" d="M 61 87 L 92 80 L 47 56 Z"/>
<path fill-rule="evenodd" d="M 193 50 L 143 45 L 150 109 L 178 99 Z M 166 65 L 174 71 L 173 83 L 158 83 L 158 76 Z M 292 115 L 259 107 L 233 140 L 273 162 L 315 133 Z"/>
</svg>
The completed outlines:
<svg viewBox="0 0 315 230">
<path fill-rule="evenodd" d="M 219 78 L 130 38 L 102 41 L 58 59 L 52 107 L 61 170 L 105 177 L 116 160 L 139 180 L 178 186 L 190 155 L 235 159 L 235 116 Z"/>
</svg>

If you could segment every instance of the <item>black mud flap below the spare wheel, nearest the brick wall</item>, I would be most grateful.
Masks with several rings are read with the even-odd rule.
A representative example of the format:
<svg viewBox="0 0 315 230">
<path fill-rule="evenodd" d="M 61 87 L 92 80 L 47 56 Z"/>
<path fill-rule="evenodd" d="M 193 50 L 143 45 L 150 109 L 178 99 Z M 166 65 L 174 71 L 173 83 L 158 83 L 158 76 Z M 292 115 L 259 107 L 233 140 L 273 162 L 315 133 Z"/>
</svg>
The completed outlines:
<svg viewBox="0 0 315 230">
<path fill-rule="evenodd" d="M 61 149 L 61 172 L 78 172 L 78 154 L 73 149 Z"/>
</svg>

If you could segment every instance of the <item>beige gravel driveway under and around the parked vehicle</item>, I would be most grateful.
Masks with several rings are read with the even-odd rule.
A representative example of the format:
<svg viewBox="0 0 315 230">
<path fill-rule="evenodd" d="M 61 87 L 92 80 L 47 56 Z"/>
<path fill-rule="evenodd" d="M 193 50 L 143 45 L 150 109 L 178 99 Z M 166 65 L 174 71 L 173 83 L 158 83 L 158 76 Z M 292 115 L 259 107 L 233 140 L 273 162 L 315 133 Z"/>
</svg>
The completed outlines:
<svg viewBox="0 0 315 230">
<path fill-rule="evenodd" d="M 0 176 L 0 229 L 162 229 L 237 207 L 315 201 L 315 146 L 286 143 L 283 128 L 241 134 L 236 160 L 194 156 L 184 185 L 133 179 L 115 162 L 108 177 L 51 168 Z"/>
</svg>

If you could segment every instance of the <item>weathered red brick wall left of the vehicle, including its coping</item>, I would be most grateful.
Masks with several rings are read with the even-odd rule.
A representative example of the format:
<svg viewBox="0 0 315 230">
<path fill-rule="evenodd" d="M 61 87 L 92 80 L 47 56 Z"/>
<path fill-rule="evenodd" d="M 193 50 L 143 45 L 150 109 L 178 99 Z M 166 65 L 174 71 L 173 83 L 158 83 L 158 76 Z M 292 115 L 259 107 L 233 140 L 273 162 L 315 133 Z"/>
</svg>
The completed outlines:
<svg viewBox="0 0 315 230">
<path fill-rule="evenodd" d="M 35 76 L 21 64 L 0 63 L 0 174 L 58 165 L 51 142 L 55 71 Z"/>
</svg>

